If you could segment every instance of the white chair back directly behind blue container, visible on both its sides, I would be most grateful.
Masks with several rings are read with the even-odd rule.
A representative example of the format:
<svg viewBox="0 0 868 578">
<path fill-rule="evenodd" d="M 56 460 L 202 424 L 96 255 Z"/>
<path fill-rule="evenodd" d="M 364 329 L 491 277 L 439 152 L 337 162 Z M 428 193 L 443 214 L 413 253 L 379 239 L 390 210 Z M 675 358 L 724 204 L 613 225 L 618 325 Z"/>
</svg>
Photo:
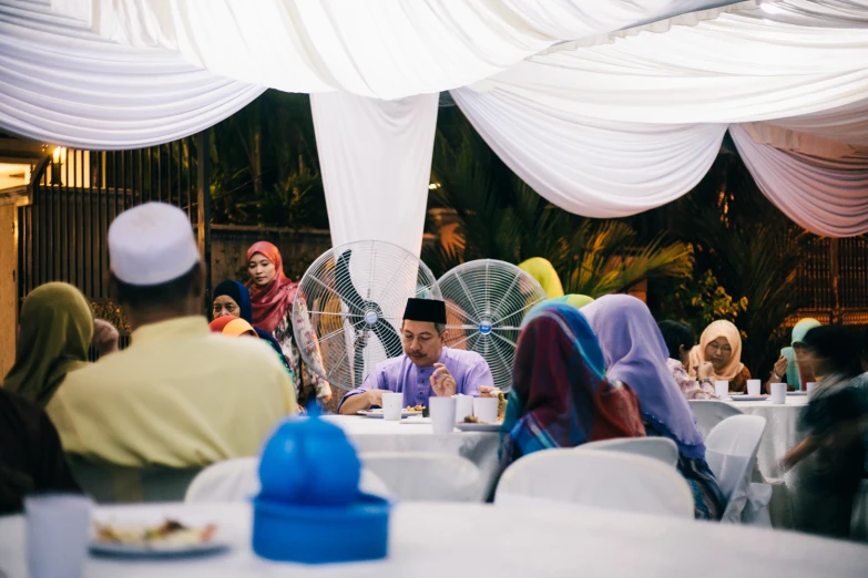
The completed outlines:
<svg viewBox="0 0 868 578">
<path fill-rule="evenodd" d="M 391 497 L 386 484 L 372 472 L 361 468 L 359 489 L 366 494 Z M 212 464 L 193 479 L 184 502 L 244 502 L 259 493 L 259 458 L 236 457 Z"/>
</svg>

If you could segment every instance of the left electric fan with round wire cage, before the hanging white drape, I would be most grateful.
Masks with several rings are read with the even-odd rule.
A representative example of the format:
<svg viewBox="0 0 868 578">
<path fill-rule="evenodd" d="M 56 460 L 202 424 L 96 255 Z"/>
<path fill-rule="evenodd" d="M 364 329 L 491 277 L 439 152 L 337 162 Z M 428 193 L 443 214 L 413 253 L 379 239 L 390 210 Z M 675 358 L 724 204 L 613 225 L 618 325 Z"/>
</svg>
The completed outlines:
<svg viewBox="0 0 868 578">
<path fill-rule="evenodd" d="M 372 240 L 327 250 L 293 301 L 302 358 L 331 385 L 358 388 L 377 363 L 402 353 L 398 330 L 410 297 L 440 299 L 433 273 L 411 252 Z"/>
</svg>

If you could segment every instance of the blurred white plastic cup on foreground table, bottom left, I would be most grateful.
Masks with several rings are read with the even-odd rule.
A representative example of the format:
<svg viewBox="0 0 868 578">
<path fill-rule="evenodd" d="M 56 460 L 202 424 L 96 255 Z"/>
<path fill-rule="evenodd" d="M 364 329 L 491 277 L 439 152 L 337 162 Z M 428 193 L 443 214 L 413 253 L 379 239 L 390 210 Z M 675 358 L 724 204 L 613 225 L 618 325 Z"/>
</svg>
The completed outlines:
<svg viewBox="0 0 868 578">
<path fill-rule="evenodd" d="M 80 578 L 91 535 L 91 499 L 76 494 L 24 498 L 31 578 Z"/>
</svg>

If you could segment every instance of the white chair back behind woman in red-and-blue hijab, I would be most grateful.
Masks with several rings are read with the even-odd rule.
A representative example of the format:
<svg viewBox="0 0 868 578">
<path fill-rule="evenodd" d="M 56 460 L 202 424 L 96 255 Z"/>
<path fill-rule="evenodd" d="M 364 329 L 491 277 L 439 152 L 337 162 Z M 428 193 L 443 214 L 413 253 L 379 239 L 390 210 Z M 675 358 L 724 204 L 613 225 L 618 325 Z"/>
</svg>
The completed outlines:
<svg viewBox="0 0 868 578">
<path fill-rule="evenodd" d="M 511 464 L 498 483 L 496 505 L 570 503 L 693 519 L 690 486 L 660 460 L 617 452 L 553 448 Z"/>
</svg>

